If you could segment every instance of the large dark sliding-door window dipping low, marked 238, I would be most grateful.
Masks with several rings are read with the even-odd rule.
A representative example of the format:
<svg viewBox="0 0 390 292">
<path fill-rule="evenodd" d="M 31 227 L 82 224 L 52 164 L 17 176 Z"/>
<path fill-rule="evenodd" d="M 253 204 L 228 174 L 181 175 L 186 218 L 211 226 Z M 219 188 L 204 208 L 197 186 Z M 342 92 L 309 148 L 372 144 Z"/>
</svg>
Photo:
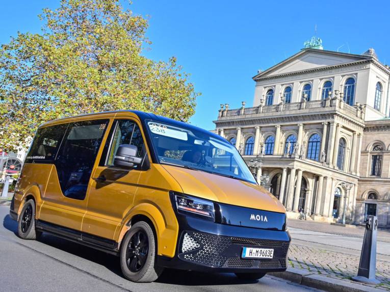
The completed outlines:
<svg viewBox="0 0 390 292">
<path fill-rule="evenodd" d="M 109 120 L 69 124 L 55 162 L 65 197 L 84 200 L 93 165 Z"/>
</svg>

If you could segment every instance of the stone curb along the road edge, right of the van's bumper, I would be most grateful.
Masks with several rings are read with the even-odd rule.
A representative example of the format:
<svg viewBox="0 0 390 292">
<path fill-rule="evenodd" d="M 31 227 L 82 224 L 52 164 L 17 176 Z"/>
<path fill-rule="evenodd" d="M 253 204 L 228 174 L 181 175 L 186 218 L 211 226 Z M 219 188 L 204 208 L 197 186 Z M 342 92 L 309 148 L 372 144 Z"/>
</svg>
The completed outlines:
<svg viewBox="0 0 390 292">
<path fill-rule="evenodd" d="M 329 292 L 375 292 L 381 291 L 371 286 L 362 285 L 356 282 L 343 281 L 329 278 L 306 270 L 288 268 L 285 272 L 267 273 L 270 276 L 282 278 L 291 282 L 298 283 L 313 288 Z"/>
</svg>

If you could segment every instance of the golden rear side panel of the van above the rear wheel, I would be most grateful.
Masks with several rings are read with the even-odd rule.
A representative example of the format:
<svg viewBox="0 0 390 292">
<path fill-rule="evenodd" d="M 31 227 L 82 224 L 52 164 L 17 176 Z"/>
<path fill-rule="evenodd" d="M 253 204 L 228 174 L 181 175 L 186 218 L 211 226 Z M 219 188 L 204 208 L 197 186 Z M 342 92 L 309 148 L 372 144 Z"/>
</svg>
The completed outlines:
<svg viewBox="0 0 390 292">
<path fill-rule="evenodd" d="M 51 164 L 25 163 L 23 165 L 15 191 L 14 210 L 18 215 L 23 207 L 25 198 L 32 195 L 36 203 L 35 218 L 39 218 L 39 210 L 43 204 L 43 196 L 52 169 L 53 165 Z"/>
</svg>

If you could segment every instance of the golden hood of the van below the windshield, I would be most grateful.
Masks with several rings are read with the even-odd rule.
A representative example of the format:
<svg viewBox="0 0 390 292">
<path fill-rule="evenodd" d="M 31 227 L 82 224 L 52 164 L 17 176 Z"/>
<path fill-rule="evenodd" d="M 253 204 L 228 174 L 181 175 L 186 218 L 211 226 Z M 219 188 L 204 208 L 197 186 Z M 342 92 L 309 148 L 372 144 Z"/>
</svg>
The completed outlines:
<svg viewBox="0 0 390 292">
<path fill-rule="evenodd" d="M 204 171 L 163 165 L 187 195 L 220 203 L 284 213 L 285 208 L 258 184 Z"/>
</svg>

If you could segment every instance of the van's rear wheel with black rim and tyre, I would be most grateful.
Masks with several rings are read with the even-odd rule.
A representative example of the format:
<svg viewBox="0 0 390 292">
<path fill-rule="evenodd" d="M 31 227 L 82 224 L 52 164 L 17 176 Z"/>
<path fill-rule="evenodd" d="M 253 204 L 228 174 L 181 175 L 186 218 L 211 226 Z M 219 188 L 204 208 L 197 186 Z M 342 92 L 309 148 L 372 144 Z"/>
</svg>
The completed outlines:
<svg viewBox="0 0 390 292">
<path fill-rule="evenodd" d="M 35 232 L 35 202 L 32 199 L 25 202 L 20 212 L 18 235 L 23 240 L 35 240 L 37 238 Z"/>
</svg>

